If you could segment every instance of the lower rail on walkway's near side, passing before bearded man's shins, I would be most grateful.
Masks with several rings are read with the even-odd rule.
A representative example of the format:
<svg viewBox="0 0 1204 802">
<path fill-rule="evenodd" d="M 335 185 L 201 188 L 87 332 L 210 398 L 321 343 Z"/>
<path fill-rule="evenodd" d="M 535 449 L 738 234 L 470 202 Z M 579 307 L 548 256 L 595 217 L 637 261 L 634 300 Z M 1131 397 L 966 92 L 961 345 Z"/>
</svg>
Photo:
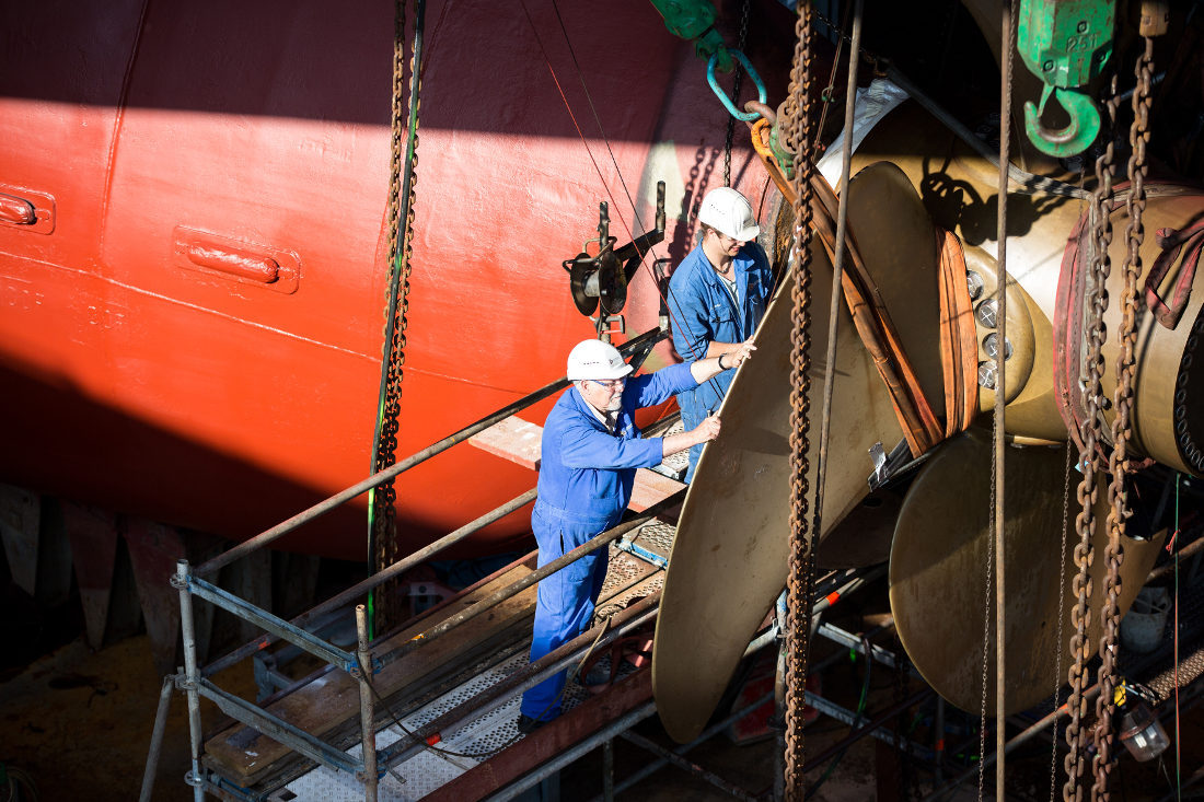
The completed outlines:
<svg viewBox="0 0 1204 802">
<path fill-rule="evenodd" d="M 557 671 L 562 671 L 573 660 L 584 654 L 595 641 L 597 641 L 596 648 L 606 647 L 656 617 L 656 607 L 660 605 L 660 601 L 661 591 L 657 590 L 631 607 L 615 613 L 610 621 L 600 624 L 568 643 L 561 644 L 535 662 L 515 671 L 496 685 L 486 688 L 472 698 L 461 702 L 437 719 L 427 721 L 414 732 L 382 749 L 377 757 L 378 763 L 389 767 L 395 766 L 423 749 L 426 738 L 433 735 L 438 735 L 443 741 L 447 741 L 470 717 L 485 715 L 504 704 L 515 694 L 521 694 L 526 689 L 538 685 Z M 610 631 L 598 637 L 600 627 L 608 625 L 610 626 Z"/>
</svg>

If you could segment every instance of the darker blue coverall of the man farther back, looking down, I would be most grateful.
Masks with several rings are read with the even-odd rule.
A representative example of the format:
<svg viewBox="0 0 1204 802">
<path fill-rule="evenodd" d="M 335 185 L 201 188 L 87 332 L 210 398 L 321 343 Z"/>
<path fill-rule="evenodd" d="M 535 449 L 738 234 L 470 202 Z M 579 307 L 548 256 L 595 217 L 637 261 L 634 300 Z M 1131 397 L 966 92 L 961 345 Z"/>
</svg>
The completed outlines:
<svg viewBox="0 0 1204 802">
<path fill-rule="evenodd" d="M 744 342 L 756 331 L 765 317 L 773 294 L 773 272 L 765 250 L 756 242 L 746 242 L 736 254 L 736 295 L 732 300 L 724 281 L 715 272 L 702 246 L 690 252 L 669 278 L 668 308 L 673 324 L 673 347 L 681 359 L 694 361 L 707 356 L 710 342 Z M 694 429 L 708 413 L 719 408 L 732 373 L 724 371 L 697 389 L 678 393 L 681 424 Z M 690 470 L 685 480 L 694 478 L 702 455 L 702 444 L 690 449 Z"/>
</svg>

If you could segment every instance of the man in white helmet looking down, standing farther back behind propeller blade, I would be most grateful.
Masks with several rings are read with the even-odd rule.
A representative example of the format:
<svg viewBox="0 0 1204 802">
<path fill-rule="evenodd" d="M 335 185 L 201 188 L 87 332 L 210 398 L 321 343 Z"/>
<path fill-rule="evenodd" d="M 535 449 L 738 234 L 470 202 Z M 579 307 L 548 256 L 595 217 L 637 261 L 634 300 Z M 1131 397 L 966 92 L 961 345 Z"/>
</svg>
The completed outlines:
<svg viewBox="0 0 1204 802">
<path fill-rule="evenodd" d="M 734 189 L 707 193 L 698 210 L 702 241 L 681 260 L 669 279 L 668 308 L 673 347 L 681 359 L 722 356 L 749 343 L 773 294 L 773 273 L 752 205 Z M 697 426 L 719 408 L 732 375 L 678 393 L 681 423 Z M 694 478 L 702 443 L 690 449 L 685 480 Z"/>
</svg>

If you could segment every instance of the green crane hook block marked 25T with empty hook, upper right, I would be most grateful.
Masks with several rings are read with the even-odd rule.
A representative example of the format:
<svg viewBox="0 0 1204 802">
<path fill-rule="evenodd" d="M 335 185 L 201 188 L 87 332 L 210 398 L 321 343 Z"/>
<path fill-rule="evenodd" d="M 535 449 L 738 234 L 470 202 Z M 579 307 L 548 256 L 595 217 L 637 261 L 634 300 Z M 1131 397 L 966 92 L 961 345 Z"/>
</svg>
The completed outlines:
<svg viewBox="0 0 1204 802">
<path fill-rule="evenodd" d="M 1082 153 L 1099 134 L 1099 110 L 1080 87 L 1096 78 L 1112 54 L 1115 0 L 1021 0 L 1016 48 L 1045 84 L 1040 105 L 1025 104 L 1025 131 L 1043 153 Z M 1069 117 L 1062 129 L 1041 123 L 1054 98 Z"/>
</svg>

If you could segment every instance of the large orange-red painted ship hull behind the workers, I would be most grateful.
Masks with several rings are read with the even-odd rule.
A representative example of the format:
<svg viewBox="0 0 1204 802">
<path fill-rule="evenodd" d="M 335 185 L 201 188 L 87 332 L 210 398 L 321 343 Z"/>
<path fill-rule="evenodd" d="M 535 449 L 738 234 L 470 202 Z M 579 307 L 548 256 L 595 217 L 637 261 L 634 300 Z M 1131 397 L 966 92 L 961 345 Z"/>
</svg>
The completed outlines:
<svg viewBox="0 0 1204 802">
<path fill-rule="evenodd" d="M 656 255 L 674 260 L 689 204 L 722 181 L 726 113 L 651 4 L 560 2 L 572 54 L 550 1 L 526 5 L 533 26 L 523 4 L 427 10 L 400 454 L 562 375 L 591 325 L 560 263 L 598 200 L 628 238 L 620 173 L 645 224 L 655 182 L 669 183 Z M 391 13 L 318 0 L 0 11 L 0 193 L 52 216 L 0 225 L 0 480 L 244 538 L 367 474 Z M 778 13 L 766 4 L 754 24 Z M 767 77 L 780 98 L 781 76 Z M 736 184 L 756 199 L 766 176 L 737 134 Z M 213 240 L 275 255 L 281 278 L 197 270 L 181 252 Z M 628 330 L 656 312 L 642 272 Z M 436 458 L 399 482 L 403 548 L 533 480 L 471 446 Z M 349 506 L 285 547 L 362 559 L 364 519 Z M 526 530 L 517 513 L 474 548 Z"/>
</svg>

